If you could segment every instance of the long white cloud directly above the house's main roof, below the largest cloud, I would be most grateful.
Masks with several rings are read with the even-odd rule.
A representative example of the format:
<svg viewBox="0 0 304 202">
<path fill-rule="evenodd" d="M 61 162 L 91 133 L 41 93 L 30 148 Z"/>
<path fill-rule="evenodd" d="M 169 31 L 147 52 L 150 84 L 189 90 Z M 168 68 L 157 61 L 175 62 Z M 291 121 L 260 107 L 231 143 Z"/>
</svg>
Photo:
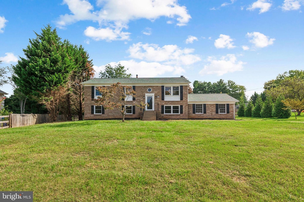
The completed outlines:
<svg viewBox="0 0 304 202">
<path fill-rule="evenodd" d="M 159 47 L 157 44 L 137 43 L 129 47 L 128 52 L 131 58 L 163 62 L 165 65 L 192 65 L 200 61 L 198 55 L 193 55 L 194 49 L 181 49 L 177 45 L 164 45 Z"/>
</svg>

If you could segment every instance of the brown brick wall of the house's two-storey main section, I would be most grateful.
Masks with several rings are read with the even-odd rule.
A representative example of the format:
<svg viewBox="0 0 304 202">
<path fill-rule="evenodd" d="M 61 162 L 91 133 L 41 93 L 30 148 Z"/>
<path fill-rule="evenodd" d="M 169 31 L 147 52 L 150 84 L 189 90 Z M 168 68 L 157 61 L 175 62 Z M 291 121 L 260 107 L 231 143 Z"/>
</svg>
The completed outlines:
<svg viewBox="0 0 304 202">
<path fill-rule="evenodd" d="M 187 119 L 188 118 L 188 86 L 183 86 L 183 100 L 182 101 L 163 101 L 161 100 L 161 86 L 136 86 L 136 98 L 137 104 L 142 101 L 145 102 L 145 94 L 149 93 L 147 88 L 152 88 L 154 93 L 154 110 L 157 113 L 158 119 Z M 91 114 L 91 105 L 95 105 L 95 102 L 91 100 L 91 86 L 85 86 L 85 119 L 107 119 L 107 118 L 122 118 L 122 115 L 118 109 L 105 110 L 105 114 Z M 156 98 L 155 96 L 159 96 Z M 133 101 L 130 101 L 132 105 Z M 128 104 L 128 103 L 127 103 Z M 161 105 L 183 105 L 183 114 L 161 114 Z M 140 111 L 139 107 L 135 108 L 135 114 L 126 114 L 125 118 L 140 118 L 143 111 Z"/>
</svg>

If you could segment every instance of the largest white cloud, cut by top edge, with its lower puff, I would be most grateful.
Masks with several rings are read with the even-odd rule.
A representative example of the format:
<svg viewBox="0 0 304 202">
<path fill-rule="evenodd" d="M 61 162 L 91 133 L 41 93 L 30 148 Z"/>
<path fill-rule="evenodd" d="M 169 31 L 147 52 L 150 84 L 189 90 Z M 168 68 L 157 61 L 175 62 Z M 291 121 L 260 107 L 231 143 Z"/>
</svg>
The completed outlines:
<svg viewBox="0 0 304 202">
<path fill-rule="evenodd" d="M 63 4 L 68 5 L 71 14 L 60 15 L 56 22 L 57 26 L 64 28 L 82 20 L 98 22 L 99 28 L 90 30 L 95 33 L 92 37 L 94 40 L 129 39 L 130 33 L 123 32 L 122 29 L 127 29 L 131 20 L 144 18 L 154 21 L 166 17 L 176 20 L 178 26 L 183 26 L 191 18 L 187 8 L 179 5 L 177 0 L 97 0 L 99 10 L 95 10 L 88 0 L 64 0 Z M 167 21 L 167 23 L 173 22 Z"/>
</svg>

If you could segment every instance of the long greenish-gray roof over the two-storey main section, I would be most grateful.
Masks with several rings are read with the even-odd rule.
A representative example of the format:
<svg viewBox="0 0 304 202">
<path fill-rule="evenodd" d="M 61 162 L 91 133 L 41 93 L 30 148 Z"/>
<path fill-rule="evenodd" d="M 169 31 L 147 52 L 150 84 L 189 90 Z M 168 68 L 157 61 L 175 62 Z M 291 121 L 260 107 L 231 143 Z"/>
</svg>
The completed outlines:
<svg viewBox="0 0 304 202">
<path fill-rule="evenodd" d="M 176 78 L 93 78 L 88 81 L 82 82 L 84 85 L 92 84 L 115 84 L 121 83 L 126 84 L 189 84 L 191 83 L 185 77 L 176 77 Z"/>
</svg>

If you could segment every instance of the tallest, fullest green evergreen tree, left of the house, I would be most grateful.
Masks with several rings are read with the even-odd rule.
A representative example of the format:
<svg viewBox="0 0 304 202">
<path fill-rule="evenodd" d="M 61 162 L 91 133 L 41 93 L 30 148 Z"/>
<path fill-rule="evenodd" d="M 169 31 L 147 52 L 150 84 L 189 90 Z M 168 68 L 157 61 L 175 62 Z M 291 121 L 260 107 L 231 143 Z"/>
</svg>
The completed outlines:
<svg viewBox="0 0 304 202">
<path fill-rule="evenodd" d="M 61 88 L 73 70 L 71 55 L 50 25 L 35 34 L 36 38 L 30 39 L 23 49 L 26 57 L 13 66 L 12 80 L 23 94 L 45 104 L 51 120 L 56 121 L 60 111 L 59 98 L 63 95 Z"/>
</svg>

